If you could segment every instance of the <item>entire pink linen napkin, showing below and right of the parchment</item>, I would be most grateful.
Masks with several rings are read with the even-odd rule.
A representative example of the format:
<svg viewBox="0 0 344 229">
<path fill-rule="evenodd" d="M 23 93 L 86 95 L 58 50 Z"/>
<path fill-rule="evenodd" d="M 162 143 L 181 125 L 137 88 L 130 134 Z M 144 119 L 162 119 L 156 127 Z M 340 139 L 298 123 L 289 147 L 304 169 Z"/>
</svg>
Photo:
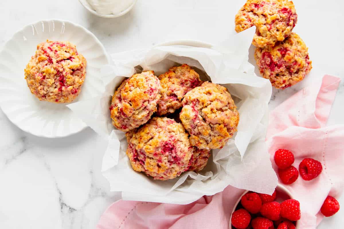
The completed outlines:
<svg viewBox="0 0 344 229">
<path fill-rule="evenodd" d="M 291 150 L 294 166 L 310 157 L 319 160 L 323 172 L 312 181 L 301 177 L 286 188 L 300 201 L 302 229 L 315 229 L 322 220 L 319 209 L 327 195 L 338 197 L 344 187 L 344 126 L 324 127 L 340 79 L 324 76 L 304 88 L 270 113 L 267 146 L 271 154 L 279 148 Z M 244 190 L 228 186 L 214 196 L 203 196 L 187 205 L 117 201 L 101 216 L 97 229 L 140 228 L 229 228 L 230 214 Z"/>
</svg>

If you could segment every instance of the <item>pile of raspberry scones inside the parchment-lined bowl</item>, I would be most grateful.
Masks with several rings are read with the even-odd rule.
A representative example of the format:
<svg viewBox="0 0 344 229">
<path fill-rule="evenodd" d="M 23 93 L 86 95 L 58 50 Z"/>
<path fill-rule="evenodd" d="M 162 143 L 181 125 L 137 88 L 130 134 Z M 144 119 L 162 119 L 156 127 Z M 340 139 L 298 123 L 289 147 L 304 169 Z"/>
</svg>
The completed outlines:
<svg viewBox="0 0 344 229">
<path fill-rule="evenodd" d="M 124 80 L 110 113 L 112 124 L 126 132 L 132 168 L 155 180 L 204 169 L 210 150 L 222 148 L 239 122 L 227 89 L 202 82 L 186 64 L 159 77 L 143 71 Z"/>
</svg>

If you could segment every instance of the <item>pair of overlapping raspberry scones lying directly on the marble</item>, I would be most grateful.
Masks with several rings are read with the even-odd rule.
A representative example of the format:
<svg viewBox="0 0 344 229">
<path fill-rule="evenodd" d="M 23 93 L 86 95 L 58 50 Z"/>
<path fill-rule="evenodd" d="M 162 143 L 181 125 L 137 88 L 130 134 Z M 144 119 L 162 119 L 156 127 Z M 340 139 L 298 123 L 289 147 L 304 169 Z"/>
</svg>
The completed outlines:
<svg viewBox="0 0 344 229">
<path fill-rule="evenodd" d="M 256 26 L 252 44 L 261 75 L 278 89 L 300 82 L 312 69 L 308 48 L 292 33 L 297 23 L 289 0 L 247 0 L 235 16 L 235 30 Z"/>
</svg>

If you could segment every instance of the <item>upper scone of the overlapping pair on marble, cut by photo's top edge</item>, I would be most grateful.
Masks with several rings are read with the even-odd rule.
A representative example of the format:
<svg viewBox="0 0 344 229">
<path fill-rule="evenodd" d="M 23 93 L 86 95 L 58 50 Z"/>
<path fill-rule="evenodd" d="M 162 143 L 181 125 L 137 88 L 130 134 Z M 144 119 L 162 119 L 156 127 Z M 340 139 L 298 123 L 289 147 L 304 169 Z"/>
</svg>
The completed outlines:
<svg viewBox="0 0 344 229">
<path fill-rule="evenodd" d="M 289 0 L 248 0 L 235 16 L 235 31 L 256 26 L 252 44 L 274 46 L 288 37 L 298 19 L 294 3 Z"/>
</svg>

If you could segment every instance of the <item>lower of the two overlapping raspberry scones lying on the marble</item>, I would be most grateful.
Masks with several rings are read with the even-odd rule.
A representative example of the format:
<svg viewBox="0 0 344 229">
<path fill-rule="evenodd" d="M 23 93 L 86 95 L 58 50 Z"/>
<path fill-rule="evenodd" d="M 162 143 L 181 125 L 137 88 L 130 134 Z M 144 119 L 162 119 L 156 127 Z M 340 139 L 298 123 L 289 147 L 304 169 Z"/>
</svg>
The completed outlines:
<svg viewBox="0 0 344 229">
<path fill-rule="evenodd" d="M 278 89 L 301 81 L 312 69 L 308 48 L 295 33 L 273 47 L 257 47 L 255 59 L 261 75 Z"/>
</svg>

